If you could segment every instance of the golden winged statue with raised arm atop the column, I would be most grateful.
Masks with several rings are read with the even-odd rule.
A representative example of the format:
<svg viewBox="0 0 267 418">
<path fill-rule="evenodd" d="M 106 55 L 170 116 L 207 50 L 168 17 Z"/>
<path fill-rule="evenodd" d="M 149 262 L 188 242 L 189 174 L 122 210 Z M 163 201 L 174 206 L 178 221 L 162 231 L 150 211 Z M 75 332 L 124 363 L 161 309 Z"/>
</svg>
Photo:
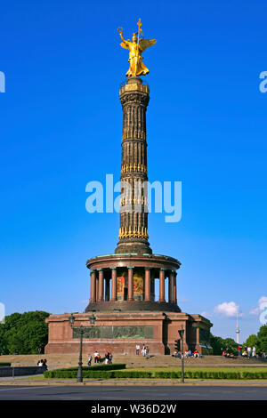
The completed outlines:
<svg viewBox="0 0 267 418">
<path fill-rule="evenodd" d="M 144 39 L 140 38 L 142 34 L 142 23 L 141 20 L 138 21 L 137 25 L 139 26 L 138 32 L 133 34 L 132 42 L 130 39 L 125 40 L 122 32 L 123 28 L 117 28 L 117 31 L 122 39 L 122 46 L 125 49 L 129 50 L 129 62 L 130 68 L 126 72 L 126 76 L 145 76 L 150 72 L 149 68 L 146 68 L 142 62 L 142 52 L 144 52 L 150 46 L 156 44 L 156 39 Z"/>
</svg>

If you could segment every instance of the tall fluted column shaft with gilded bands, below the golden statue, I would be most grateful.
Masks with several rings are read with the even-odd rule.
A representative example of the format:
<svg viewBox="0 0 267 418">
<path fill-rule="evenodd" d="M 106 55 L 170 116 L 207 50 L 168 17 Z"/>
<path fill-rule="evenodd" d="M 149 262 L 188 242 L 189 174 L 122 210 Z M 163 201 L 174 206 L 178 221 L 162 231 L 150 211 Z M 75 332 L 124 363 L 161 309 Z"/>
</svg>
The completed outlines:
<svg viewBox="0 0 267 418">
<path fill-rule="evenodd" d="M 120 88 L 123 135 L 119 242 L 115 253 L 152 253 L 148 242 L 148 194 L 143 186 L 147 175 L 146 109 L 150 89 L 138 76 Z M 138 206 L 138 207 L 137 207 Z"/>
</svg>

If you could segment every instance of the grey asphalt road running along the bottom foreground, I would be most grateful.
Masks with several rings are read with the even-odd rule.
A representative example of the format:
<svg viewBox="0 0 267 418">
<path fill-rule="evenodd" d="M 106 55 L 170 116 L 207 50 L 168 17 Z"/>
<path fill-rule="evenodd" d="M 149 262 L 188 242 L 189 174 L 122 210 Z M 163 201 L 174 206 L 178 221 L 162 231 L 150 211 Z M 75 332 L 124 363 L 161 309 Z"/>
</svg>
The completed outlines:
<svg viewBox="0 0 267 418">
<path fill-rule="evenodd" d="M 0 386 L 0 400 L 267 400 L 266 387 Z"/>
</svg>

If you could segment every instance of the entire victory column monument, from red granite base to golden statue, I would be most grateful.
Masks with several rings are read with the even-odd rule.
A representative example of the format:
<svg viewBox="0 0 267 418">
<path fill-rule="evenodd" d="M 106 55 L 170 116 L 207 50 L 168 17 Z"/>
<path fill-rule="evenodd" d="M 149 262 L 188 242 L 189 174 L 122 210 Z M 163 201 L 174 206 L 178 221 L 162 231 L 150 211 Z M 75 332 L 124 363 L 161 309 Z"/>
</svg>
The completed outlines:
<svg viewBox="0 0 267 418">
<path fill-rule="evenodd" d="M 125 40 L 118 28 L 121 46 L 129 51 L 129 69 L 121 84 L 119 98 L 123 109 L 121 196 L 119 241 L 115 253 L 99 255 L 86 262 L 90 269 L 90 300 L 85 313 L 51 315 L 46 353 L 77 352 L 78 326 L 84 326 L 86 350 L 134 354 L 135 345 L 146 342 L 151 354 L 174 350 L 178 330 L 184 329 L 184 349 L 203 352 L 208 347 L 208 319 L 182 313 L 177 305 L 176 271 L 180 261 L 154 254 L 148 235 L 148 181 L 146 111 L 150 88 L 142 81 L 149 69 L 142 52 L 156 44 L 145 39 L 141 20 L 138 32 Z M 159 297 L 155 281 L 159 280 Z M 167 283 L 167 294 L 166 294 Z M 88 325 L 89 315 L 95 324 Z"/>
</svg>

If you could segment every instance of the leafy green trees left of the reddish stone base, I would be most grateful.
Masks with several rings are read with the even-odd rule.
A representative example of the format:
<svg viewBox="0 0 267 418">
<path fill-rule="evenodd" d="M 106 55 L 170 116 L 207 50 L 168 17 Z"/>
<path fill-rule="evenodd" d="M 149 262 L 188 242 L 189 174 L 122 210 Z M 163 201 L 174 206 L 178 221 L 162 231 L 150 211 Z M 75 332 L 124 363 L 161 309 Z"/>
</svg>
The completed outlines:
<svg viewBox="0 0 267 418">
<path fill-rule="evenodd" d="M 48 342 L 48 325 L 44 319 L 48 312 L 13 313 L 5 317 L 5 323 L 0 325 L 1 354 L 37 354 L 44 352 Z"/>
</svg>

